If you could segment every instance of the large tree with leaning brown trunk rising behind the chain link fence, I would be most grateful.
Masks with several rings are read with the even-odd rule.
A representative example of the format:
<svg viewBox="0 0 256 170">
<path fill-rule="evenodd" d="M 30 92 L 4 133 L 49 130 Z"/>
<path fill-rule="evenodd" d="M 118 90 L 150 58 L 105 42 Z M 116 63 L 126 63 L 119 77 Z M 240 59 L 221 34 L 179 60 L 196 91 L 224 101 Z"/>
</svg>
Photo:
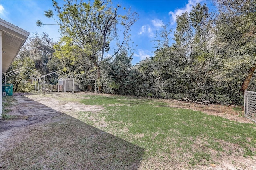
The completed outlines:
<svg viewBox="0 0 256 170">
<path fill-rule="evenodd" d="M 256 70 L 256 0 L 215 0 L 216 50 L 231 75 L 241 79 L 240 90 L 247 89 Z"/>
</svg>

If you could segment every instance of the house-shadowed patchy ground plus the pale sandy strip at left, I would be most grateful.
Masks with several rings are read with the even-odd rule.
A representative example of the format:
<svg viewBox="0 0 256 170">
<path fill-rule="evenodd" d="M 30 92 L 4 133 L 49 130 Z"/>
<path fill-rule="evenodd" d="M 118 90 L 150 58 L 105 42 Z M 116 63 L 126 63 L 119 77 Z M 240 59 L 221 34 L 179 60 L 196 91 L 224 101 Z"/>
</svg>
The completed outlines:
<svg viewBox="0 0 256 170">
<path fill-rule="evenodd" d="M 58 101 L 48 95 L 14 93 L 13 97 L 16 102 L 8 115 L 18 118 L 0 120 L 0 169 L 139 167 L 142 148 L 65 114 L 95 113 L 102 107 Z"/>
</svg>

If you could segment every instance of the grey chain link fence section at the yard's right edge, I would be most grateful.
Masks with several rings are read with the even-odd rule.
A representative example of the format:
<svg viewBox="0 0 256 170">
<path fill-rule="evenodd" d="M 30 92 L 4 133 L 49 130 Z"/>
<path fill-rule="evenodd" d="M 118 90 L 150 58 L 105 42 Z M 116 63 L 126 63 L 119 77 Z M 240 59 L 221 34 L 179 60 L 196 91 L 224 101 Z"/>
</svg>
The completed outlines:
<svg viewBox="0 0 256 170">
<path fill-rule="evenodd" d="M 256 122 L 256 92 L 244 91 L 244 116 Z"/>
</svg>

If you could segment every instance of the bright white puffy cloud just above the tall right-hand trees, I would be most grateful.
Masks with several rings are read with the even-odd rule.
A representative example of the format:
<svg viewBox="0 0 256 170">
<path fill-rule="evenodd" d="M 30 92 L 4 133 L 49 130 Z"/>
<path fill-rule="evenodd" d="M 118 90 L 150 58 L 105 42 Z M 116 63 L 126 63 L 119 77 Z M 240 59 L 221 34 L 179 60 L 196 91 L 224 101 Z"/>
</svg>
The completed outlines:
<svg viewBox="0 0 256 170">
<path fill-rule="evenodd" d="M 196 6 L 197 3 L 200 3 L 202 0 L 188 0 L 188 4 L 184 8 L 176 9 L 174 12 L 170 11 L 169 16 L 171 16 L 171 24 L 176 22 L 176 16 L 182 15 L 184 12 L 191 12 L 192 6 Z"/>
</svg>

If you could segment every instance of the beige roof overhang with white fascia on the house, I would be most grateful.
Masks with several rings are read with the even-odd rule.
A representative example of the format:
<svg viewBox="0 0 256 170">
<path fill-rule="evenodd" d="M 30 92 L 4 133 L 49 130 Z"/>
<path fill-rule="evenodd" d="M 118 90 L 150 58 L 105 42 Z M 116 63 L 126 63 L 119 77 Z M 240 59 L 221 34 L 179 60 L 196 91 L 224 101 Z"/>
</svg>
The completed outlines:
<svg viewBox="0 0 256 170">
<path fill-rule="evenodd" d="M 5 73 L 30 33 L 1 18 L 0 30 L 2 31 L 2 73 Z"/>
</svg>

